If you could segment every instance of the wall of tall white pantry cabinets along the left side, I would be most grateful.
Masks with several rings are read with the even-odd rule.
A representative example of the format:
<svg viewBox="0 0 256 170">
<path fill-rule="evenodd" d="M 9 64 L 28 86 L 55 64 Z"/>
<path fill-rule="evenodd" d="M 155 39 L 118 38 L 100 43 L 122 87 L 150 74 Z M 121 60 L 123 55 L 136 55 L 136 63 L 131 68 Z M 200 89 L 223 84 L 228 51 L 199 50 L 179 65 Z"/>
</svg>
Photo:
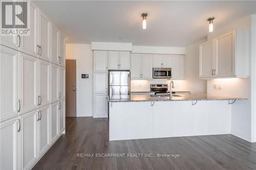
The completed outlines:
<svg viewBox="0 0 256 170">
<path fill-rule="evenodd" d="M 65 133 L 65 36 L 28 5 L 30 35 L 0 41 L 0 169 L 31 169 Z"/>
</svg>

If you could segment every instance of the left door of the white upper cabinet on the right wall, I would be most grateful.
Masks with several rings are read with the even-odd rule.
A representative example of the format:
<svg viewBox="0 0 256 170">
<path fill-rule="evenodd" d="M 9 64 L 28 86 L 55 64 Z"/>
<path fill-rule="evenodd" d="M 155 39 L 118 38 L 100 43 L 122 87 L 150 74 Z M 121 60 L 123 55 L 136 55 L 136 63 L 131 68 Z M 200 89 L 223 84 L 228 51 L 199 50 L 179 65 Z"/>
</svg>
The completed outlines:
<svg viewBox="0 0 256 170">
<path fill-rule="evenodd" d="M 200 77 L 214 77 L 214 40 L 199 46 Z"/>
</svg>

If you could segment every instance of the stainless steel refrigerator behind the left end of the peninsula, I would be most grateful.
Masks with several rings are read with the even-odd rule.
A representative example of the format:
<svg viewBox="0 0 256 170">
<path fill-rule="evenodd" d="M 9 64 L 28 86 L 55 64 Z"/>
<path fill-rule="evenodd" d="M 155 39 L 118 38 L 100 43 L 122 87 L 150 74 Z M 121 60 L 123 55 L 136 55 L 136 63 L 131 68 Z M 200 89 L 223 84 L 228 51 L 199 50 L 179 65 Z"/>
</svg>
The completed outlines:
<svg viewBox="0 0 256 170">
<path fill-rule="evenodd" d="M 129 100 L 131 94 L 130 70 L 109 70 L 110 100 Z"/>
</svg>

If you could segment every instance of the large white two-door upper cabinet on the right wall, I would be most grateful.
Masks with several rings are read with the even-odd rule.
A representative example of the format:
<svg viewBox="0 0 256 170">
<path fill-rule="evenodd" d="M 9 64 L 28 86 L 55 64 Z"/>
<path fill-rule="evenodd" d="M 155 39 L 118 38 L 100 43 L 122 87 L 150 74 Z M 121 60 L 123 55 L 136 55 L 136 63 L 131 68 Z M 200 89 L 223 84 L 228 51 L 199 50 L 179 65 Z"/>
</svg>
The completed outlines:
<svg viewBox="0 0 256 170">
<path fill-rule="evenodd" d="M 247 78 L 249 31 L 236 30 L 200 44 L 200 78 Z"/>
</svg>

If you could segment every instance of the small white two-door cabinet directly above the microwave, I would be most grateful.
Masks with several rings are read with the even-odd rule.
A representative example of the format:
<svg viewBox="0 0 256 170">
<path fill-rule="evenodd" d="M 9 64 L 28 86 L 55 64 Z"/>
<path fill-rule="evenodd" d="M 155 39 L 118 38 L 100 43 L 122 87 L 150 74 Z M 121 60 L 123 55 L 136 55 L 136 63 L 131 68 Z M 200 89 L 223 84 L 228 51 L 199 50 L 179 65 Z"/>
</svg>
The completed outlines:
<svg viewBox="0 0 256 170">
<path fill-rule="evenodd" d="M 155 68 L 170 68 L 170 55 L 168 54 L 153 54 L 153 67 Z"/>
</svg>

